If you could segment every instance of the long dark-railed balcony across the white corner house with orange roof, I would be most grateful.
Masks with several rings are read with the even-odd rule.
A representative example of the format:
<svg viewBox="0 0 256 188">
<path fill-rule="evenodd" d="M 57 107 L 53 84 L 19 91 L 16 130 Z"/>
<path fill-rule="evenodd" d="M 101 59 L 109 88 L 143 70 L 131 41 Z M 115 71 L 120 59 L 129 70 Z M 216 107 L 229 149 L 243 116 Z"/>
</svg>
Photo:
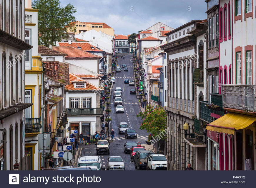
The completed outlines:
<svg viewBox="0 0 256 188">
<path fill-rule="evenodd" d="M 102 108 L 74 108 L 74 109 L 67 109 L 68 116 L 75 116 L 75 115 L 102 115 L 103 110 Z"/>
</svg>

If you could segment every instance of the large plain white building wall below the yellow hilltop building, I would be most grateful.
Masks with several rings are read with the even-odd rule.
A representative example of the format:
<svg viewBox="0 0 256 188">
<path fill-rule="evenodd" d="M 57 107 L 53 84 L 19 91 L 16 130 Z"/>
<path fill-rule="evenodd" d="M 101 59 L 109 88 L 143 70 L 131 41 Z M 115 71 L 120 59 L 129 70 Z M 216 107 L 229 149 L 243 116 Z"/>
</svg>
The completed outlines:
<svg viewBox="0 0 256 188">
<path fill-rule="evenodd" d="M 95 31 L 94 29 L 79 33 L 76 38 L 86 40 L 88 43 L 99 47 L 105 52 L 113 52 L 113 36 L 107 35 L 101 31 Z"/>
</svg>

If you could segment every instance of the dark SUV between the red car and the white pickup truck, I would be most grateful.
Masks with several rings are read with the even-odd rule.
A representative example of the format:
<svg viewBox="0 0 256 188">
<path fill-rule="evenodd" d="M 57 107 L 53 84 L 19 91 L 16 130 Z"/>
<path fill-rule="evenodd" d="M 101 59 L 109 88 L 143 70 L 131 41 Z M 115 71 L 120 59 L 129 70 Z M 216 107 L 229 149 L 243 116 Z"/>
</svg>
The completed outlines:
<svg viewBox="0 0 256 188">
<path fill-rule="evenodd" d="M 134 165 L 135 168 L 139 168 L 139 170 L 141 170 L 142 168 L 147 168 L 147 155 L 148 154 L 155 154 L 152 151 L 149 150 L 139 150 L 136 151 L 135 155 L 134 155 Z"/>
</svg>

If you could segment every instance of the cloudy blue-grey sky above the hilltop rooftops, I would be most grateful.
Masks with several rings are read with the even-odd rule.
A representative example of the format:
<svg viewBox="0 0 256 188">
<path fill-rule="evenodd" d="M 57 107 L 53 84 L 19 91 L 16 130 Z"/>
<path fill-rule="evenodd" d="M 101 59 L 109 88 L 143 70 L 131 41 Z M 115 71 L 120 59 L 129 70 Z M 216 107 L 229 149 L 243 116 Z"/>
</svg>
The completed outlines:
<svg viewBox="0 0 256 188">
<path fill-rule="evenodd" d="M 105 22 L 115 34 L 129 35 L 157 22 L 177 28 L 191 20 L 206 19 L 204 0 L 61 0 L 76 7 L 77 20 Z"/>
</svg>

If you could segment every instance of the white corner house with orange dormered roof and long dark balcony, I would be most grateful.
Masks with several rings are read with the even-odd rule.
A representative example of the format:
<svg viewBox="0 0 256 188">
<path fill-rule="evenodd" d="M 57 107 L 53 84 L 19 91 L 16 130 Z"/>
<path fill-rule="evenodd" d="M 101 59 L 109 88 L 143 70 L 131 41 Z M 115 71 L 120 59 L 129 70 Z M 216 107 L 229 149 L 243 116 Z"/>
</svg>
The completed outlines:
<svg viewBox="0 0 256 188">
<path fill-rule="evenodd" d="M 102 89 L 91 82 L 99 83 L 99 77 L 69 73 L 70 84 L 65 86 L 68 126 L 83 135 L 100 131 L 100 92 Z"/>
</svg>

